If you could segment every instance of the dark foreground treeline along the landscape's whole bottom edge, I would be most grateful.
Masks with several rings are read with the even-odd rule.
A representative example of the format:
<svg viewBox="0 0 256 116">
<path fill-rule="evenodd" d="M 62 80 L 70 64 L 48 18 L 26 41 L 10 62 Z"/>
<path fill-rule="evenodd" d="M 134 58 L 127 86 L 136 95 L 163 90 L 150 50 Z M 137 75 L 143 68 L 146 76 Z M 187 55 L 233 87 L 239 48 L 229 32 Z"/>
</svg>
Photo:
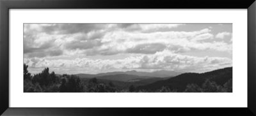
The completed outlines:
<svg viewBox="0 0 256 116">
<path fill-rule="evenodd" d="M 56 75 L 49 68 L 31 75 L 28 65 L 24 64 L 24 92 L 179 92 L 172 87 L 163 86 L 157 90 L 139 89 L 134 85 L 119 87 L 112 82 L 100 82 L 97 78 L 81 80 L 76 75 Z M 232 79 L 223 85 L 205 80 L 202 85 L 190 83 L 184 92 L 232 92 Z"/>
</svg>

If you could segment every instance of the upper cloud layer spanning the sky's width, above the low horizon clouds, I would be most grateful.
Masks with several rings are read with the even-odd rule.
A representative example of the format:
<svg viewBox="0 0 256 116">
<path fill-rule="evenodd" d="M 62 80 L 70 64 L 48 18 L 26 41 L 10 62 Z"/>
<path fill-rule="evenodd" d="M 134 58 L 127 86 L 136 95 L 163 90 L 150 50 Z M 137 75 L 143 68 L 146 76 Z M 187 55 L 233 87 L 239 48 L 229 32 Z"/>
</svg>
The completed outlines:
<svg viewBox="0 0 256 116">
<path fill-rule="evenodd" d="M 26 29 L 24 34 L 24 53 L 35 52 L 27 55 L 29 57 L 52 56 L 53 54 L 40 54 L 48 48 L 62 50 L 63 52 L 58 52 L 58 55 L 61 55 L 61 53 L 73 55 L 74 53 L 72 52 L 74 50 L 76 53 L 85 55 L 155 54 L 163 50 L 172 50 L 175 53 L 189 52 L 191 50 L 232 50 L 232 47 L 227 47 L 229 45 L 223 41 L 206 42 L 205 40 L 213 39 L 211 29 L 208 28 L 191 32 L 159 31 L 159 29 L 172 29 L 179 25 L 182 24 L 26 25 L 28 29 L 41 32 L 30 32 Z M 116 26 L 121 30 L 113 29 Z M 109 27 L 109 29 L 104 29 L 104 27 Z M 139 27 L 141 31 L 134 33 L 122 30 L 131 27 Z M 49 32 L 45 31 L 45 29 Z M 152 29 L 154 31 L 151 33 L 144 33 L 144 31 Z M 58 31 L 57 33 L 59 34 L 54 31 Z"/>
</svg>

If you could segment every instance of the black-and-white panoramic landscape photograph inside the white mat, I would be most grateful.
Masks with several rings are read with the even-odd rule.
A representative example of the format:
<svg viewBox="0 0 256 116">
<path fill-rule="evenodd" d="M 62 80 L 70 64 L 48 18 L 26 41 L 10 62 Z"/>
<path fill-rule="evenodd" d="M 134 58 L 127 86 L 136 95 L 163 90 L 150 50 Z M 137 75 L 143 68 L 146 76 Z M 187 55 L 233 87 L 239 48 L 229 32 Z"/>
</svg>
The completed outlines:
<svg viewBox="0 0 256 116">
<path fill-rule="evenodd" d="M 23 92 L 232 92 L 232 24 L 23 27 Z"/>
</svg>

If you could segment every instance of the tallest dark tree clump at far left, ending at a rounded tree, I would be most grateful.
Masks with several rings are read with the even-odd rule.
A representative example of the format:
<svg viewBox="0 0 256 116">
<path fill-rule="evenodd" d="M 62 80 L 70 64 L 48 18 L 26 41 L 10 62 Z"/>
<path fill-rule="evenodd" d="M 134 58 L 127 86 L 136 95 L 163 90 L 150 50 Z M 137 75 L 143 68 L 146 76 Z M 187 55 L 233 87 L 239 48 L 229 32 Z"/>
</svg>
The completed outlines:
<svg viewBox="0 0 256 116">
<path fill-rule="evenodd" d="M 24 92 L 84 92 L 83 88 L 77 76 L 57 76 L 53 71 L 49 73 L 49 68 L 31 76 L 28 66 L 24 64 Z"/>
</svg>

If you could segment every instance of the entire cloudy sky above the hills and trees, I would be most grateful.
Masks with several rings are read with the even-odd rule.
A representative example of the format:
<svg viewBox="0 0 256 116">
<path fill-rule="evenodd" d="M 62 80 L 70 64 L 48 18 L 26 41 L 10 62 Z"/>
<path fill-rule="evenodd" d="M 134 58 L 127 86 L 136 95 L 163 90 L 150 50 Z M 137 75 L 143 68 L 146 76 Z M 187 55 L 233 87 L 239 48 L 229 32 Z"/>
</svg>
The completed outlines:
<svg viewBox="0 0 256 116">
<path fill-rule="evenodd" d="M 189 71 L 232 66 L 232 24 L 24 24 L 31 73 Z"/>
</svg>

